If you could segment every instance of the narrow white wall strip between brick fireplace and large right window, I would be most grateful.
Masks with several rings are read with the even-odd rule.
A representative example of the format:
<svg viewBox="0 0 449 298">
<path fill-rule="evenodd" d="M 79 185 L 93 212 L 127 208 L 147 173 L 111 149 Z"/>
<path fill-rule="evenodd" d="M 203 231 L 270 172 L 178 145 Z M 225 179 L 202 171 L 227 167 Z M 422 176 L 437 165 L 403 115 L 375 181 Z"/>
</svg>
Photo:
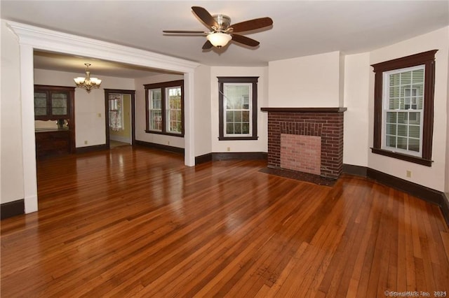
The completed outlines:
<svg viewBox="0 0 449 298">
<path fill-rule="evenodd" d="M 348 55 L 344 64 L 343 163 L 368 166 L 369 53 Z"/>
</svg>

